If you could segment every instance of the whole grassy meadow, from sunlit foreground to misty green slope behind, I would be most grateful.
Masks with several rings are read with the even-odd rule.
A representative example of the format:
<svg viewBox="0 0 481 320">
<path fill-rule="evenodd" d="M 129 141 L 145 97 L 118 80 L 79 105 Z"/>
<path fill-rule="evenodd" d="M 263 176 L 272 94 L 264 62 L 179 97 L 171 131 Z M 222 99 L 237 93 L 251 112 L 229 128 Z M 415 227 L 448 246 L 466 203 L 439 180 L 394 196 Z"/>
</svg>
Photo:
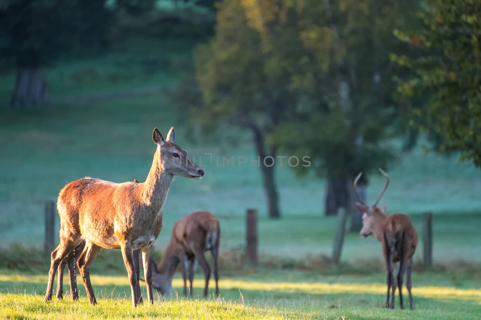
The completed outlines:
<svg viewBox="0 0 481 320">
<path fill-rule="evenodd" d="M 78 95 L 171 85 L 177 71 L 170 67 L 172 62 L 165 61 L 171 61 L 183 45 L 163 45 L 171 49 L 160 57 L 124 54 L 119 49 L 113 57 L 75 64 L 64 61 L 48 73 L 51 93 Z M 163 64 L 169 67 L 152 71 L 152 65 Z M 129 69 L 119 71 L 124 65 Z M 4 84 L 0 97 L 5 97 L 13 78 L 2 76 L 0 83 Z M 283 216 L 267 219 L 259 168 L 250 166 L 250 157 L 256 156 L 249 132 L 239 132 L 242 139 L 237 146 L 208 137 L 195 137 L 194 142 L 175 106 L 160 93 L 99 101 L 79 96 L 73 103 L 22 111 L 5 106 L 1 112 L 1 318 L 479 319 L 481 171 L 458 162 L 456 155 L 425 153 L 421 142 L 410 152 L 400 151 L 396 162 L 386 169 L 391 176 L 383 197 L 388 212 L 410 214 L 420 239 L 421 214 L 434 213 L 434 266 L 428 270 L 421 266 L 420 243 L 413 274 L 416 310 L 411 313 L 383 308 L 385 272 L 380 244 L 373 237 L 361 239 L 348 233 L 340 266 L 329 260 L 336 218 L 323 215 L 322 178 L 295 177 L 289 166 L 278 167 Z M 98 306 L 89 306 L 83 286 L 78 302 L 68 297 L 51 304 L 41 302 L 49 265 L 41 252 L 44 202 L 55 201 L 66 183 L 84 176 L 142 182 L 155 151 L 152 129 L 158 127 L 165 135 L 171 126 L 176 128 L 176 142 L 198 164 L 202 161 L 205 165 L 205 177 L 200 181 L 176 178 L 172 184 L 164 207 L 164 229 L 156 242 L 156 259 L 178 218 L 195 210 L 211 211 L 222 228 L 221 298 L 184 299 L 174 294 L 166 299 L 157 297 L 153 307 L 145 304 L 134 309 L 120 252 L 101 250 L 92 265 Z M 216 166 L 205 153 L 212 153 L 214 159 L 245 156 L 248 163 L 238 166 L 236 160 L 233 167 Z M 368 201 L 377 198 L 384 183 L 383 178 L 372 176 Z M 261 263 L 255 268 L 242 263 L 247 208 L 259 210 Z M 58 229 L 58 217 L 56 224 Z M 177 291 L 182 285 L 179 278 L 177 274 L 174 280 Z M 202 285 L 198 276 L 195 291 L 200 292 Z"/>
</svg>

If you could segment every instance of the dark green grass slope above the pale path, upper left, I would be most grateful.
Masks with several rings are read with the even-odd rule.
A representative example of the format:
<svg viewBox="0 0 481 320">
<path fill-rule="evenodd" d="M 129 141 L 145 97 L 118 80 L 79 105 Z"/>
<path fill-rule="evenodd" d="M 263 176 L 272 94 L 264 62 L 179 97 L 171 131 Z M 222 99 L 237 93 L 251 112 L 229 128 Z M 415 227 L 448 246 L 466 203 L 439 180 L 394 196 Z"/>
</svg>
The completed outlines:
<svg viewBox="0 0 481 320">
<path fill-rule="evenodd" d="M 49 95 L 81 95 L 149 86 L 172 86 L 199 40 L 128 37 L 93 57 L 63 57 L 43 68 Z M 202 40 L 201 40 L 202 41 Z M 146 49 L 148 48 L 148 49 Z M 9 101 L 15 72 L 0 73 L 0 106 Z"/>
</svg>

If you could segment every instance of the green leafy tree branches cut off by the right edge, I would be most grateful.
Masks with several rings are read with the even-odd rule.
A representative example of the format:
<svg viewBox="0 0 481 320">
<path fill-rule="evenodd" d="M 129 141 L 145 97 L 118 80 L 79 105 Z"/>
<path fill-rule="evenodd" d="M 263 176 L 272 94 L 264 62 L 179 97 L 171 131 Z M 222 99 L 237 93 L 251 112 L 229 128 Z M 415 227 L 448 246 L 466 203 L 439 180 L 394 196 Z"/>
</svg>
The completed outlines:
<svg viewBox="0 0 481 320">
<path fill-rule="evenodd" d="M 423 27 L 395 32 L 412 52 L 391 55 L 411 71 L 398 79 L 410 123 L 438 135 L 439 151 L 481 167 L 481 3 L 427 0 L 419 13 Z"/>
</svg>

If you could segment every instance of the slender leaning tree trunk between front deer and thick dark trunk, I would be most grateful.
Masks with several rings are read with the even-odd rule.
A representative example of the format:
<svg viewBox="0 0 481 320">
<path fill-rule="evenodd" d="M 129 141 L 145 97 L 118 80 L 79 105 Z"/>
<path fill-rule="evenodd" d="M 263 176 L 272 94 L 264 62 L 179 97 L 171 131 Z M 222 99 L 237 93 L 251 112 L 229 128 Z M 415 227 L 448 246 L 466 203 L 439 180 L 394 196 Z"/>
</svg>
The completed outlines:
<svg viewBox="0 0 481 320">
<path fill-rule="evenodd" d="M 272 159 L 276 159 L 276 148 L 270 148 L 269 152 L 267 153 L 266 146 L 264 144 L 264 136 L 261 130 L 254 124 L 251 124 L 250 127 L 254 133 L 254 144 L 257 154 L 259 155 L 259 166 L 261 168 L 262 178 L 264 180 L 264 190 L 266 191 L 267 197 L 268 216 L 271 219 L 279 219 L 280 210 L 275 179 L 275 164 L 271 163 L 271 161 L 275 161 Z M 264 165 L 264 159 L 266 156 L 272 157 L 272 159 L 267 158 L 266 160 L 266 164 L 268 166 Z M 270 166 L 271 164 L 272 166 Z"/>
</svg>

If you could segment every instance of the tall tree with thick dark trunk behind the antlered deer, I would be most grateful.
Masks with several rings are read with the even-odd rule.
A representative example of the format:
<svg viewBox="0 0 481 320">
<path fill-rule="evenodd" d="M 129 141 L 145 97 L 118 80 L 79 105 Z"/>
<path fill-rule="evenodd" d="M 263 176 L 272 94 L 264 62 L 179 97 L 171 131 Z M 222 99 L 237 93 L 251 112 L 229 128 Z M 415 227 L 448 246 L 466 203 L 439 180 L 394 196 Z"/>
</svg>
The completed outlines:
<svg viewBox="0 0 481 320">
<path fill-rule="evenodd" d="M 351 205 L 352 181 L 359 171 L 385 167 L 393 158 L 394 150 L 385 142 L 398 116 L 392 77 L 400 68 L 390 61 L 389 53 L 405 49 L 392 38 L 392 31 L 418 23 L 412 13 L 418 1 L 326 0 L 318 6 L 325 7 L 325 24 L 333 34 L 332 59 L 318 98 L 325 106 L 301 117 L 310 125 L 302 126 L 299 139 L 303 143 L 297 148 L 321 159 L 314 166 L 328 176 L 325 213 L 335 214 L 339 207 L 346 207 L 351 230 L 358 231 L 362 218 Z M 312 113 L 319 116 L 312 117 Z M 363 179 L 358 184 L 363 197 L 367 183 Z"/>
</svg>

